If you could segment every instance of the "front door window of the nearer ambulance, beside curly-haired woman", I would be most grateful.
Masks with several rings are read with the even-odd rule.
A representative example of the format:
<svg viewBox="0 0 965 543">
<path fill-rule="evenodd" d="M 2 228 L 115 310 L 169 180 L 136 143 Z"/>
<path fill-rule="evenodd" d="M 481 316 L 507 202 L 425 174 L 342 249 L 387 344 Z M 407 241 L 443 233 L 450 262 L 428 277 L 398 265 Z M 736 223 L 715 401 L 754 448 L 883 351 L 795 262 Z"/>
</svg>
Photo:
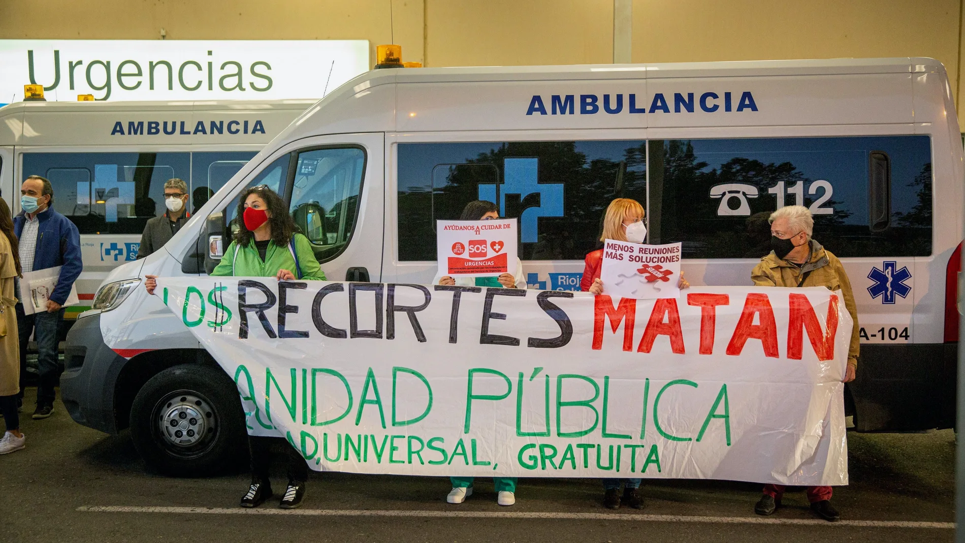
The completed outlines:
<svg viewBox="0 0 965 543">
<path fill-rule="evenodd" d="M 316 258 L 337 257 L 358 220 L 366 153 L 359 147 L 302 150 L 291 185 L 291 217 Z"/>
</svg>

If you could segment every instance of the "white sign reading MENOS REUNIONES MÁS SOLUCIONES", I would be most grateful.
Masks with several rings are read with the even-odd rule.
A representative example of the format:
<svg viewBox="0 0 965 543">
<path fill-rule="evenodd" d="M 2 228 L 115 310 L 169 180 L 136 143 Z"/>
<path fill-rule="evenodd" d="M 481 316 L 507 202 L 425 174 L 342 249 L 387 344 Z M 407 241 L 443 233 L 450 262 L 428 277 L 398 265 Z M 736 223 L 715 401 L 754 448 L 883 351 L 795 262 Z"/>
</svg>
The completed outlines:
<svg viewBox="0 0 965 543">
<path fill-rule="evenodd" d="M 617 298 L 676 298 L 680 293 L 680 243 L 644 245 L 603 241 L 600 281 L 603 292 Z"/>
</svg>

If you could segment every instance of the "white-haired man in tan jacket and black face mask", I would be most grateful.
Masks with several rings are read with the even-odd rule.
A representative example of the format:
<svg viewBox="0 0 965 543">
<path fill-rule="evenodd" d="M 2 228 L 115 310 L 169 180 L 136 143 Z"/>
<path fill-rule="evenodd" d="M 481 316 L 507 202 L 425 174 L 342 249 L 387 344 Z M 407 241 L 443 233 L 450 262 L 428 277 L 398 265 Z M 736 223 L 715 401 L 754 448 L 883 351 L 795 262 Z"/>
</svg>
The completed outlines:
<svg viewBox="0 0 965 543">
<path fill-rule="evenodd" d="M 827 286 L 832 291 L 841 290 L 844 307 L 851 313 L 854 327 L 851 329 L 851 345 L 847 354 L 847 370 L 843 382 L 854 380 L 858 368 L 858 310 L 851 293 L 851 282 L 841 260 L 827 251 L 812 238 L 814 219 L 811 211 L 803 205 L 786 205 L 771 214 L 771 253 L 761 258 L 751 279 L 757 286 Z M 758 515 L 770 515 L 781 504 L 785 486 L 765 484 L 764 495 L 754 506 Z M 831 506 L 830 486 L 809 486 L 808 501 L 812 510 L 826 521 L 841 518 Z"/>
</svg>

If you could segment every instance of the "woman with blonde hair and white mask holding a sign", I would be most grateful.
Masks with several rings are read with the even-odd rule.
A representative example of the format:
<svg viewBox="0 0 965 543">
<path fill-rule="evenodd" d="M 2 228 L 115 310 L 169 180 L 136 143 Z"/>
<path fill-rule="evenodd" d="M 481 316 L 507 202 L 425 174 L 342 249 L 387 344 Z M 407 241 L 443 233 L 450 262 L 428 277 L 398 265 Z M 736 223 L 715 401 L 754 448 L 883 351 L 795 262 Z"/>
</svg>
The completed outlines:
<svg viewBox="0 0 965 543">
<path fill-rule="evenodd" d="M 647 226 L 644 225 L 644 206 L 629 198 L 618 198 L 611 202 L 606 208 L 606 215 L 603 217 L 603 233 L 600 235 L 600 241 L 605 239 L 643 243 L 647 239 Z M 603 282 L 600 281 L 602 266 L 602 249 L 597 249 L 587 255 L 586 268 L 583 270 L 583 279 L 580 281 L 581 290 L 593 292 L 597 295 L 603 293 Z M 683 279 L 682 271 L 677 286 L 680 288 L 690 286 Z M 605 490 L 603 504 L 610 509 L 619 509 L 622 502 L 634 509 L 643 509 L 644 498 L 640 495 L 641 481 L 642 479 L 637 477 L 603 479 L 603 489 Z M 622 497 L 620 497 L 620 484 L 624 484 Z"/>
</svg>

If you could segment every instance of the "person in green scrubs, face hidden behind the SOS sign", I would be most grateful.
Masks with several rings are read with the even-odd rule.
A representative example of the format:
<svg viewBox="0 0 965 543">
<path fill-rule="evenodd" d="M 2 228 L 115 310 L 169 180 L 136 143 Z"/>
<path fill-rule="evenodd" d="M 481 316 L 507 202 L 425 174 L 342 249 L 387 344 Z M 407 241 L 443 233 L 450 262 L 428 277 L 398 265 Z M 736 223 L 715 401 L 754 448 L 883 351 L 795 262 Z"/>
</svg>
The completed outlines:
<svg viewBox="0 0 965 543">
<path fill-rule="evenodd" d="M 460 221 L 486 221 L 499 218 L 499 207 L 492 202 L 477 200 L 466 204 L 462 209 Z M 494 286 L 501 288 L 526 288 L 526 275 L 523 274 L 523 263 L 516 258 L 515 273 L 504 273 L 499 277 L 460 277 L 436 275 L 433 285 L 459 286 Z M 473 495 L 474 477 L 449 477 L 453 482 L 453 490 L 446 497 L 446 502 L 462 503 Z M 500 505 L 512 505 L 516 502 L 516 477 L 493 477 L 496 487 L 497 500 Z"/>
</svg>

